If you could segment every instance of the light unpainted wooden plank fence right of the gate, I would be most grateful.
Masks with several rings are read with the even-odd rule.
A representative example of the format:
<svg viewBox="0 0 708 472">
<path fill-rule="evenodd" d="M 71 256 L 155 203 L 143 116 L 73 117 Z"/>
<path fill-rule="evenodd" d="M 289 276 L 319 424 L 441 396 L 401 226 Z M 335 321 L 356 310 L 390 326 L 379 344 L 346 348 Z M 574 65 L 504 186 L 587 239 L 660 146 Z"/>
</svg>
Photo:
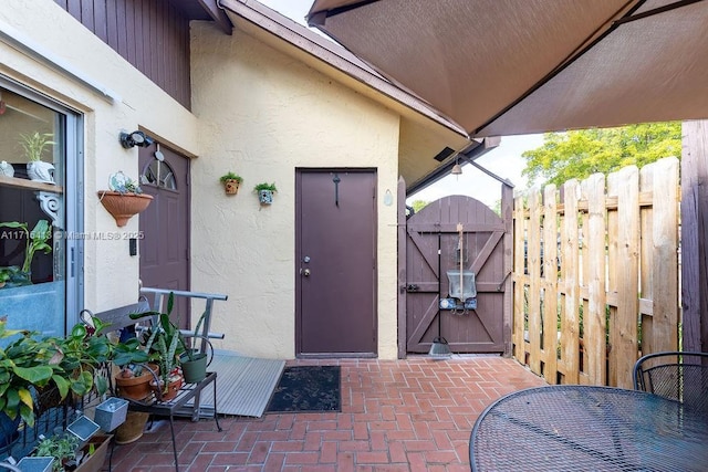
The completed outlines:
<svg viewBox="0 0 708 472">
<path fill-rule="evenodd" d="M 679 162 L 665 158 L 514 199 L 513 356 L 550 384 L 632 388 L 678 348 Z"/>
</svg>

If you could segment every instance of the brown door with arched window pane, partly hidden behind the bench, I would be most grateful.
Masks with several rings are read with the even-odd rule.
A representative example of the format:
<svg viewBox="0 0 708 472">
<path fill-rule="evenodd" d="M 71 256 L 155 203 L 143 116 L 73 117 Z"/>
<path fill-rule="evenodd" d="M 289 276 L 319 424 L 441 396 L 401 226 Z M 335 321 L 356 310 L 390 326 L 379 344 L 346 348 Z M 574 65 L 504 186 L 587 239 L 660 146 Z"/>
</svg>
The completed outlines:
<svg viewBox="0 0 708 472">
<path fill-rule="evenodd" d="M 159 150 L 159 151 L 158 151 Z M 158 153 L 157 153 L 158 151 Z M 189 160 L 165 146 L 139 150 L 140 186 L 154 197 L 140 213 L 143 286 L 189 290 Z M 189 323 L 186 297 L 175 301 L 173 315 Z"/>
</svg>

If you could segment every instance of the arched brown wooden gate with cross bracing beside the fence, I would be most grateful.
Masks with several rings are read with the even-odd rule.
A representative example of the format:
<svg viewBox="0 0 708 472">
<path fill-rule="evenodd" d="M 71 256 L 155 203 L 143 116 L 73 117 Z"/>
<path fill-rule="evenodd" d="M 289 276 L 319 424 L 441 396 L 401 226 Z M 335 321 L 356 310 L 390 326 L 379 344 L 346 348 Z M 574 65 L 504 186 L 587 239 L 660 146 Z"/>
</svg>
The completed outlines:
<svg viewBox="0 0 708 472">
<path fill-rule="evenodd" d="M 429 352 L 437 336 L 445 337 L 454 353 L 504 352 L 504 292 L 511 268 L 504 259 L 509 238 L 501 218 L 473 198 L 452 196 L 429 203 L 402 222 L 404 228 L 399 339 L 405 337 L 405 350 L 399 344 L 399 356 Z M 460 256 L 462 269 L 476 276 L 477 308 L 440 310 L 440 297 L 449 295 L 447 273 L 459 271 Z"/>
</svg>

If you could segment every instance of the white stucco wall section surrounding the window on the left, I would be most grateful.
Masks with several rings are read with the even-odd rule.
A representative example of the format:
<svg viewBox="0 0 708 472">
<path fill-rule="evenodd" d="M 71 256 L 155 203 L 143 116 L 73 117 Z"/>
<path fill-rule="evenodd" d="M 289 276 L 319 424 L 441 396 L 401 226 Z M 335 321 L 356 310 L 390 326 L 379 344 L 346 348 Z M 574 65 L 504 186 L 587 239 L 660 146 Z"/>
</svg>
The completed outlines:
<svg viewBox="0 0 708 472">
<path fill-rule="evenodd" d="M 96 198 L 108 176 L 123 170 L 138 176 L 137 148 L 125 150 L 121 130 L 144 127 L 187 151 L 198 155 L 197 122 L 183 106 L 133 69 L 111 48 L 94 36 L 52 0 L 3 0 L 0 31 L 27 39 L 42 55 L 67 64 L 121 99 L 108 103 L 66 74 L 40 59 L 0 41 L 0 74 L 50 96 L 83 114 L 84 231 L 86 234 L 123 233 L 138 230 L 133 218 L 117 228 Z M 138 294 L 138 258 L 128 255 L 124 240 L 85 240 L 85 306 L 108 310 L 135 302 Z M 71 314 L 70 314 L 71 315 Z"/>
</svg>

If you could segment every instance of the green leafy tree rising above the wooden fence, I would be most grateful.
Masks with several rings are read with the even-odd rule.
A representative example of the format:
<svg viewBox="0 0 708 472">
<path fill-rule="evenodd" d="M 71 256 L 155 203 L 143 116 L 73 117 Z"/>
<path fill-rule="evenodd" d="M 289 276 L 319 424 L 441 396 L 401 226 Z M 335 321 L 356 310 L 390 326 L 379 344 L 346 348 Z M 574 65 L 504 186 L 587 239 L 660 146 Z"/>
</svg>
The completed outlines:
<svg viewBox="0 0 708 472">
<path fill-rule="evenodd" d="M 522 175 L 530 185 L 584 179 L 626 166 L 643 167 L 664 157 L 681 155 L 681 124 L 649 123 L 620 128 L 546 133 L 543 146 L 527 150 Z"/>
</svg>

